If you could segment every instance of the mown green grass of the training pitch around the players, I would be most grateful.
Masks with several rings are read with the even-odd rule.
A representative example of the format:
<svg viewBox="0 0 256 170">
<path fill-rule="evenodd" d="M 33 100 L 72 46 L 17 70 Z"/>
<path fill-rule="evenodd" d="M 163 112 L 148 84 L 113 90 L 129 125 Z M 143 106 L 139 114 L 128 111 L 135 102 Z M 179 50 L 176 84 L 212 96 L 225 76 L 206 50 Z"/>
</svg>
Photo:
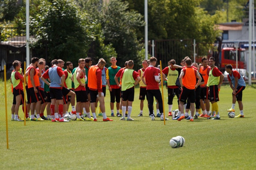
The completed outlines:
<svg viewBox="0 0 256 170">
<path fill-rule="evenodd" d="M 8 87 L 10 84 L 8 83 Z M 148 110 L 139 114 L 136 88 L 132 116 L 135 121 L 52 123 L 11 121 L 12 95 L 8 90 L 9 149 L 6 149 L 4 83 L 0 82 L 1 169 L 255 169 L 255 94 L 243 92 L 245 118 L 228 118 L 229 86 L 222 86 L 218 102 L 221 120 L 200 118 L 151 121 Z M 164 89 L 165 112 L 168 113 Z M 173 109 L 177 109 L 177 98 Z M 110 116 L 109 92 L 105 98 Z M 236 115 L 239 108 L 236 104 Z M 20 115 L 22 110 L 20 109 Z M 21 116 L 23 117 L 23 116 Z M 171 148 L 169 140 L 183 136 L 182 148 Z"/>
</svg>

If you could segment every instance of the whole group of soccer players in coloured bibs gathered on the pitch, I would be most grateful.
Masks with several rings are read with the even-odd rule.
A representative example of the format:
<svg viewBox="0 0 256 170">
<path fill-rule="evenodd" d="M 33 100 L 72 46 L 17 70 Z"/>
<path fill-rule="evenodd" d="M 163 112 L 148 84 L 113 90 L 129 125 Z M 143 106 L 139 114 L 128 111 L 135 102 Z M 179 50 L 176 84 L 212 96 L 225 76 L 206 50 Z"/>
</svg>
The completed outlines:
<svg viewBox="0 0 256 170">
<path fill-rule="evenodd" d="M 26 68 L 26 94 L 27 103 L 24 110 L 24 75 L 21 69 L 21 62 L 14 61 L 14 70 L 11 73 L 11 83 L 13 86 L 13 106 L 12 121 L 23 121 L 18 116 L 19 106 L 23 105 L 23 112 L 26 113 L 26 120 L 52 122 L 68 122 L 64 119 L 66 114 L 75 114 L 77 121 L 98 121 L 96 109 L 99 102 L 99 116 L 103 116 L 103 121 L 113 121 L 106 116 L 105 96 L 106 84 L 110 92 L 111 116 L 114 114 L 114 103 L 116 102 L 116 116 L 120 120 L 133 121 L 131 118 L 132 103 L 134 101 L 134 87 L 139 84 L 140 94 L 140 114 L 143 116 L 145 97 L 148 100 L 148 110 L 151 120 L 155 120 L 153 109 L 154 97 L 157 101 L 157 117 L 160 120 L 169 120 L 163 116 L 163 100 L 160 91 L 160 69 L 155 67 L 157 58 L 151 57 L 148 61 L 142 61 L 143 68 L 138 72 L 133 70 L 132 60 L 125 62 L 125 67 L 116 65 L 117 60 L 111 57 L 111 66 L 105 67 L 105 60 L 99 59 L 96 65 L 92 65 L 91 58 L 81 58 L 78 67 L 73 69 L 71 62 L 66 62 L 66 70 L 63 69 L 65 62 L 61 59 L 51 61 L 51 67 L 45 66 L 43 58 L 32 58 L 32 63 Z M 208 65 L 209 63 L 209 65 Z M 181 121 L 206 117 L 208 119 L 220 119 L 218 104 L 218 91 L 220 89 L 224 75 L 214 65 L 215 58 L 202 58 L 199 67 L 197 63 L 192 63 L 189 57 L 181 61 L 181 65 L 176 65 L 175 60 L 169 61 L 169 66 L 162 70 L 162 78 L 167 81 L 169 114 L 172 116 L 172 101 L 176 95 L 178 97 L 179 112 L 174 120 Z M 239 103 L 240 115 L 244 117 L 242 106 L 242 91 L 245 89 L 245 82 L 242 76 L 228 64 L 226 71 L 230 87 L 233 90 L 232 108 L 227 111 L 235 111 L 236 100 Z M 76 106 L 75 106 L 76 99 Z M 210 112 L 210 102 L 212 112 Z M 71 103 L 72 112 L 68 112 Z M 196 105 L 196 107 L 195 107 Z M 44 116 L 44 110 L 47 116 Z M 203 113 L 199 115 L 200 108 Z M 185 113 L 184 113 L 185 109 Z M 93 117 L 90 115 L 90 110 Z M 190 115 L 188 114 L 190 110 Z M 31 113 L 31 114 L 30 114 Z M 211 115 L 210 115 L 211 114 Z M 216 115 L 214 117 L 214 115 Z M 125 118 L 127 117 L 127 118 Z"/>
</svg>

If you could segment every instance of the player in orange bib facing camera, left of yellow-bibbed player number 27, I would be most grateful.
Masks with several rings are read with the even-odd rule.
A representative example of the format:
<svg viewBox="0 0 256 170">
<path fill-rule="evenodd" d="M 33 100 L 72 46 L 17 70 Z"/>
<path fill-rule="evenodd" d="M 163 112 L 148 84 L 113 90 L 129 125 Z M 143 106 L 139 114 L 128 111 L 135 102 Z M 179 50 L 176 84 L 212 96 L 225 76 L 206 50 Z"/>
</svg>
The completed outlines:
<svg viewBox="0 0 256 170">
<path fill-rule="evenodd" d="M 203 57 L 201 61 L 202 61 L 203 67 L 200 68 L 199 72 L 203 76 L 204 84 L 200 86 L 201 88 L 200 105 L 202 107 L 203 114 L 199 115 L 199 117 L 209 118 L 210 117 L 210 100 L 208 100 L 209 94 L 208 94 L 206 85 L 208 82 L 211 67 L 208 65 L 208 59 L 206 57 Z M 204 103 L 206 103 L 206 109 L 205 109 Z"/>
</svg>

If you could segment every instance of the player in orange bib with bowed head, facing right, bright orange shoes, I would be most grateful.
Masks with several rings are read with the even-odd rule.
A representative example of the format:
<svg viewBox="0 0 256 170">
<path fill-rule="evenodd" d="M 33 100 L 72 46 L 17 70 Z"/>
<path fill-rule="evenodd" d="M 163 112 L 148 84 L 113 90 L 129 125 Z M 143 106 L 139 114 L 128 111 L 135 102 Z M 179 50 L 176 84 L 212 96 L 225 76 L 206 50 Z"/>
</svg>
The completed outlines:
<svg viewBox="0 0 256 170">
<path fill-rule="evenodd" d="M 93 114 L 93 118 L 90 116 L 90 112 L 87 113 L 88 119 L 93 119 L 93 121 L 97 121 L 96 113 L 95 113 L 95 103 L 96 98 L 98 98 L 103 121 L 113 121 L 106 116 L 105 112 L 105 101 L 104 101 L 104 94 L 102 93 L 102 69 L 106 65 L 106 61 L 104 59 L 99 60 L 98 64 L 93 65 L 88 70 L 88 87 L 90 89 L 90 96 L 91 96 L 91 111 Z"/>
</svg>

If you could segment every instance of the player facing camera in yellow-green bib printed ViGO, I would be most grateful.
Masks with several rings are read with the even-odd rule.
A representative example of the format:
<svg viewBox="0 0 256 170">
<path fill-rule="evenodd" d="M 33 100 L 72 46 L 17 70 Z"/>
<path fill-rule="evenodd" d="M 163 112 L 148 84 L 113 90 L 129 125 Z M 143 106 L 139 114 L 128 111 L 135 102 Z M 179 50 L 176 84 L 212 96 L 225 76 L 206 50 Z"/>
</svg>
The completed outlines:
<svg viewBox="0 0 256 170">
<path fill-rule="evenodd" d="M 175 85 L 177 77 L 178 77 L 178 70 L 174 67 L 176 61 L 172 59 L 170 61 L 170 66 L 165 67 L 162 72 L 167 75 L 167 85 L 168 85 L 168 106 L 169 106 L 169 114 L 168 116 L 172 116 L 172 101 L 174 95 L 179 98 L 179 91 L 178 86 Z M 178 103 L 179 104 L 179 103 Z"/>
</svg>

